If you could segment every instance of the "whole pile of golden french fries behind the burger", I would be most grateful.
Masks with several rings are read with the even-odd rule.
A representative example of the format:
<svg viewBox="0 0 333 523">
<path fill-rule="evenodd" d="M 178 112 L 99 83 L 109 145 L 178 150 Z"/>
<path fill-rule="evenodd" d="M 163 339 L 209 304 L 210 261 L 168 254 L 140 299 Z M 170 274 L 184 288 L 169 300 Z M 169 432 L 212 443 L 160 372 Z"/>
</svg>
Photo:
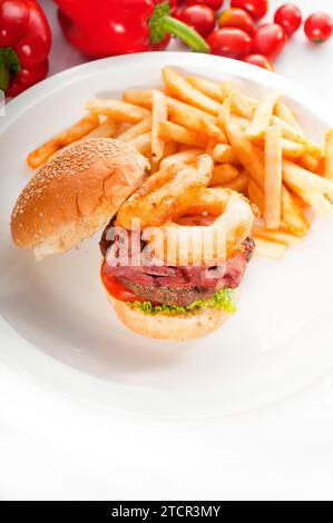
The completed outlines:
<svg viewBox="0 0 333 523">
<path fill-rule="evenodd" d="M 29 154 L 36 169 L 63 147 L 117 138 L 145 155 L 151 171 L 203 152 L 214 160 L 210 186 L 244 194 L 261 211 L 256 255 L 280 258 L 310 229 L 308 210 L 333 209 L 333 129 L 323 147 L 307 138 L 281 92 L 254 99 L 231 81 L 163 69 L 164 89 L 127 90 L 95 99 L 87 115 Z"/>
</svg>

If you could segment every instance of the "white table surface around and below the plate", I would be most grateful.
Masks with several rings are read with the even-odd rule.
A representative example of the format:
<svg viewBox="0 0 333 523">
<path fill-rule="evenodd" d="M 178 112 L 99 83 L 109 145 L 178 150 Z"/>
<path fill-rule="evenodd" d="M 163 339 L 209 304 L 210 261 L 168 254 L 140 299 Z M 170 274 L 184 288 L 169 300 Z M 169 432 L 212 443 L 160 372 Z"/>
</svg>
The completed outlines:
<svg viewBox="0 0 333 523">
<path fill-rule="evenodd" d="M 52 3 L 41 3 L 53 28 L 50 73 L 81 63 Z M 294 3 L 333 14 L 330 0 Z M 332 66 L 333 39 L 314 48 L 300 31 L 276 70 L 332 105 Z M 111 417 L 0 365 L 0 499 L 332 500 L 332 414 L 330 369 L 277 404 L 198 423 Z"/>
</svg>

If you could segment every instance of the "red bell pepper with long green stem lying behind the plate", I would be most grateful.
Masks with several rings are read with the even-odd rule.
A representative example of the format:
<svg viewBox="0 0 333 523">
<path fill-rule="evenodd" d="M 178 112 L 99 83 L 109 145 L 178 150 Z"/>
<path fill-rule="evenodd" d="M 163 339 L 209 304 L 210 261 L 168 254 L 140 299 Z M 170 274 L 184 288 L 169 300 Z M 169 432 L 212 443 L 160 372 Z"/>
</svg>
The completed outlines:
<svg viewBox="0 0 333 523">
<path fill-rule="evenodd" d="M 55 0 L 66 38 L 94 58 L 164 49 L 169 34 L 194 51 L 209 46 L 192 28 L 172 14 L 176 1 L 168 0 Z"/>
</svg>

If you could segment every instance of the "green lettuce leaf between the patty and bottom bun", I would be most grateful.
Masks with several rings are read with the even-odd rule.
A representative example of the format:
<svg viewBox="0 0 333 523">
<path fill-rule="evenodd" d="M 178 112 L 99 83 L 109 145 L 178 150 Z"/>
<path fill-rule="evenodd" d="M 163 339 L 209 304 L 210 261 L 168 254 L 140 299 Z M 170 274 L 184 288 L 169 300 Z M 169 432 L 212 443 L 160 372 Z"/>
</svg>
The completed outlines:
<svg viewBox="0 0 333 523">
<path fill-rule="evenodd" d="M 235 313 L 236 306 L 233 302 L 233 290 L 231 288 L 223 288 L 218 290 L 212 298 L 197 299 L 187 307 L 178 307 L 177 305 L 153 305 L 151 302 L 131 302 L 128 304 L 130 307 L 141 310 L 144 314 L 166 314 L 179 315 L 196 313 L 203 308 L 217 308 L 224 309 L 226 313 Z"/>
</svg>

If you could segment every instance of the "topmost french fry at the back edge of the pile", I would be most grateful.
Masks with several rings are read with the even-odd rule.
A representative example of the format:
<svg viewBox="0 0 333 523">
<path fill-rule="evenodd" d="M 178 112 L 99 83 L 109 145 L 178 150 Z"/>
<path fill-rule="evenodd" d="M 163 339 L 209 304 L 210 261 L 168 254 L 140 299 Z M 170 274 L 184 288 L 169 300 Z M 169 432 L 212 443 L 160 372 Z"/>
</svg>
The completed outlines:
<svg viewBox="0 0 333 523">
<path fill-rule="evenodd" d="M 197 107 L 209 115 L 216 115 L 219 103 L 207 97 L 178 75 L 173 68 L 163 68 L 163 79 L 168 90 L 180 100 Z"/>
</svg>

